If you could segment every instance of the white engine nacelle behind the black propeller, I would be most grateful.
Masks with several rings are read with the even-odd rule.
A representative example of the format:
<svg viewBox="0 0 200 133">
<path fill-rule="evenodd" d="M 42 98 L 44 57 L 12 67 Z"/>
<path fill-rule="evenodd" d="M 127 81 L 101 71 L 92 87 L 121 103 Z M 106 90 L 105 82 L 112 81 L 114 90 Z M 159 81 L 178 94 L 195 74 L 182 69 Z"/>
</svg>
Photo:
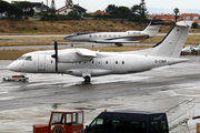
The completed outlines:
<svg viewBox="0 0 200 133">
<path fill-rule="evenodd" d="M 59 63 L 77 63 L 77 62 L 84 62 L 90 61 L 91 57 L 82 57 L 77 53 L 77 51 L 68 51 L 66 53 L 59 53 L 58 60 Z"/>
</svg>

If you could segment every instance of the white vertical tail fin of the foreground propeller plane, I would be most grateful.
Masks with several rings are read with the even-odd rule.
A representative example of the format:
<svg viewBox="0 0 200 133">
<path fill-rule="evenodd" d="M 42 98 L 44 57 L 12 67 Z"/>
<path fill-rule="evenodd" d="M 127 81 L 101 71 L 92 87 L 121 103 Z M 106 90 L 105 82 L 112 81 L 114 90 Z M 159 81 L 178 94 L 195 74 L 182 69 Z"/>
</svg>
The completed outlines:
<svg viewBox="0 0 200 133">
<path fill-rule="evenodd" d="M 187 40 L 192 21 L 180 21 L 171 29 L 166 38 L 156 44 L 151 55 L 178 58 Z"/>
</svg>

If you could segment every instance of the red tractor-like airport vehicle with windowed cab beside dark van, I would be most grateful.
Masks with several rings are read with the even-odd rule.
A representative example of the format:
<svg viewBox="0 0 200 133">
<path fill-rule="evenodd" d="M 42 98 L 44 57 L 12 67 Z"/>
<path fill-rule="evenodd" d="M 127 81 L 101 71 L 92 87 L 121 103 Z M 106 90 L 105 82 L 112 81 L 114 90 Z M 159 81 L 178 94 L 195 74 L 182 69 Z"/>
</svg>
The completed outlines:
<svg viewBox="0 0 200 133">
<path fill-rule="evenodd" d="M 33 133 L 80 133 L 83 111 L 51 111 L 49 124 L 34 124 Z"/>
</svg>

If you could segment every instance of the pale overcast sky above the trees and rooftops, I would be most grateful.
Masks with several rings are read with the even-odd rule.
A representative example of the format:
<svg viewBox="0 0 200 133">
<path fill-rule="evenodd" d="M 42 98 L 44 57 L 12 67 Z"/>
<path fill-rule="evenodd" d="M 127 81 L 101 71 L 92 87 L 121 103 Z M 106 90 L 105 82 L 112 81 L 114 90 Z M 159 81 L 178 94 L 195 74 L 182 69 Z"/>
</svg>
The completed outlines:
<svg viewBox="0 0 200 133">
<path fill-rule="evenodd" d="M 11 0 L 4 0 L 11 2 Z M 14 0 L 17 1 L 17 0 Z M 30 2 L 41 2 L 47 4 L 47 0 L 20 0 Z M 51 6 L 52 0 L 48 0 L 48 6 Z M 64 6 L 66 0 L 54 0 L 56 8 L 59 9 Z M 73 0 L 73 4 L 79 3 L 87 12 L 94 12 L 97 10 L 104 10 L 109 4 L 133 7 L 139 4 L 141 0 Z M 199 13 L 200 0 L 144 0 L 148 12 L 153 13 L 173 13 L 174 8 L 179 8 L 180 13 Z"/>
</svg>

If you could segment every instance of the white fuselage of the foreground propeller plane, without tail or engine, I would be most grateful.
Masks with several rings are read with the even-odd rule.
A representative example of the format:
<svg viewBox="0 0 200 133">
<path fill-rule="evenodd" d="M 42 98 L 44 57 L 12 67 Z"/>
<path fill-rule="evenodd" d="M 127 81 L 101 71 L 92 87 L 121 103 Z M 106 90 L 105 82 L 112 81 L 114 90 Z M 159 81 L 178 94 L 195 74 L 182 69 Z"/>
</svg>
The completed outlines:
<svg viewBox="0 0 200 133">
<path fill-rule="evenodd" d="M 187 61 L 186 59 L 137 55 L 126 52 L 98 52 L 96 58 L 89 59 L 88 61 L 58 63 L 58 72 L 56 72 L 54 59 L 51 54 L 53 54 L 53 51 L 27 53 L 23 55 L 24 60 L 16 60 L 8 69 L 27 73 L 62 73 L 76 76 L 99 76 L 106 74 L 142 72 L 152 68 Z M 31 57 L 31 60 L 26 60 L 27 57 Z"/>
</svg>

